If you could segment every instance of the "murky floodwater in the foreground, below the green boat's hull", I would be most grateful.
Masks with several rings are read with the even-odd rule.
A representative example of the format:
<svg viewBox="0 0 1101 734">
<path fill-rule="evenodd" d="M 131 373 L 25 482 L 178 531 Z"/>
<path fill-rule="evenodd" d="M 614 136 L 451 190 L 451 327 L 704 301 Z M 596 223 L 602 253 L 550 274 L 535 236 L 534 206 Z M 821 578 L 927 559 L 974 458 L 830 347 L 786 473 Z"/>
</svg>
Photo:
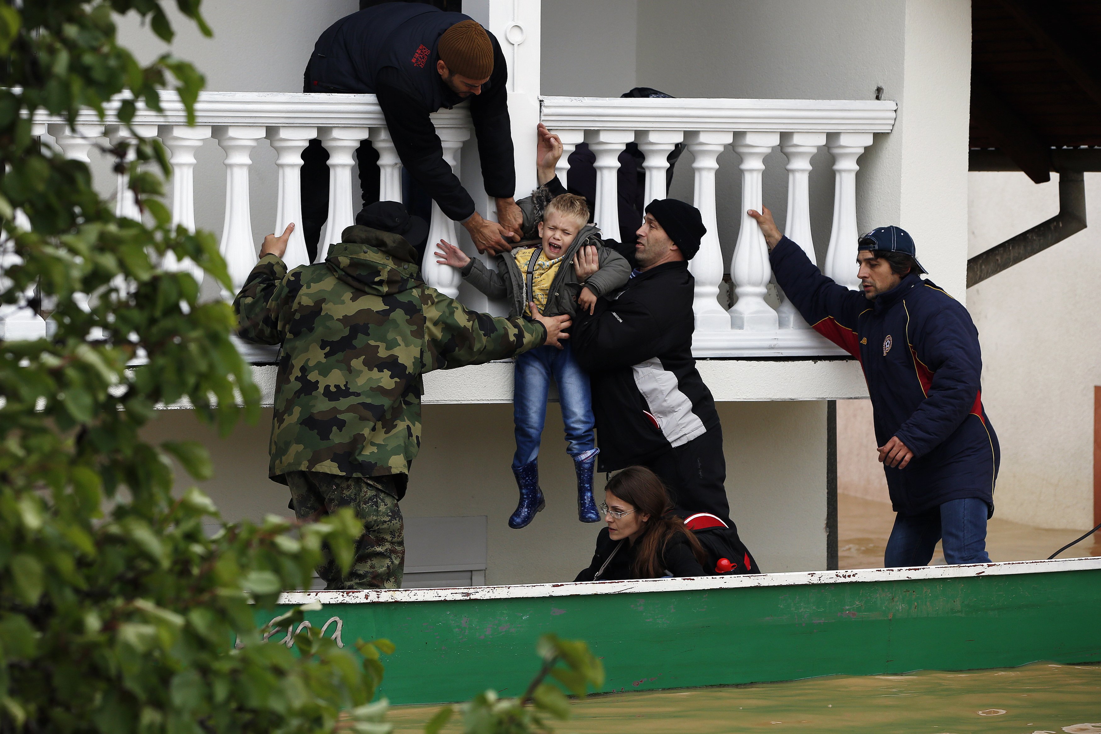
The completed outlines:
<svg viewBox="0 0 1101 734">
<path fill-rule="evenodd" d="M 830 676 L 788 683 L 590 697 L 555 731 L 728 734 L 798 731 L 920 734 L 1101 733 L 1101 666 L 906 676 Z M 435 706 L 395 706 L 395 732 L 419 732 Z M 453 722 L 445 732 L 458 732 Z"/>
</svg>

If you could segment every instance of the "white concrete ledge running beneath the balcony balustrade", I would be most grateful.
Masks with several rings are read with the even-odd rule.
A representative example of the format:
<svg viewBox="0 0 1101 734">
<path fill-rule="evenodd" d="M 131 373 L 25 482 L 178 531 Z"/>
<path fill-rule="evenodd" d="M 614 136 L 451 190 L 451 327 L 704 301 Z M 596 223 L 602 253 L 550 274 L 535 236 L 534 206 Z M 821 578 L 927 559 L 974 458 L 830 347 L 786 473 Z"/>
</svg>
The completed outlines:
<svg viewBox="0 0 1101 734">
<path fill-rule="evenodd" d="M 698 360 L 704 381 L 720 402 L 843 401 L 868 397 L 860 364 L 851 359 Z M 275 392 L 275 365 L 252 368 L 263 404 Z M 552 399 L 557 399 L 554 391 Z M 490 362 L 424 376 L 425 405 L 512 402 L 512 362 Z"/>
</svg>

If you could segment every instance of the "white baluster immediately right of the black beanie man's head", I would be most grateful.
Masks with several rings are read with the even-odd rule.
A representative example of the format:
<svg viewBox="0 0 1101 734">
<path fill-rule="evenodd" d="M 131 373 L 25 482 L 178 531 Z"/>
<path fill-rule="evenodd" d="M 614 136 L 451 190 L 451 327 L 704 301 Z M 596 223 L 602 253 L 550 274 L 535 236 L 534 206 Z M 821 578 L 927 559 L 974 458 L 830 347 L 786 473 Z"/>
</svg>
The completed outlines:
<svg viewBox="0 0 1101 734">
<path fill-rule="evenodd" d="M 653 135 L 654 133 L 650 133 Z M 695 173 L 693 206 L 699 209 L 707 233 L 699 243 L 699 252 L 688 263 L 688 270 L 696 278 L 696 294 L 693 298 L 693 310 L 696 314 L 697 331 L 729 331 L 730 316 L 719 305 L 719 284 L 722 283 L 722 247 L 719 244 L 719 220 L 716 217 L 715 172 L 719 168 L 719 154 L 733 140 L 733 133 L 721 130 L 706 132 L 689 132 L 685 142 L 693 154 L 691 168 Z M 640 146 L 641 147 L 641 146 Z M 672 150 L 672 145 L 671 145 Z M 668 152 L 665 152 L 668 155 Z M 647 163 L 650 163 L 647 156 Z M 661 188 L 665 188 L 665 168 L 668 163 L 663 156 L 664 167 L 654 173 L 659 174 Z M 646 189 L 651 189 L 651 169 L 646 168 Z M 656 198 L 656 197 L 655 197 Z M 663 197 L 664 198 L 664 197 Z M 647 199 L 648 202 L 648 199 Z"/>
</svg>

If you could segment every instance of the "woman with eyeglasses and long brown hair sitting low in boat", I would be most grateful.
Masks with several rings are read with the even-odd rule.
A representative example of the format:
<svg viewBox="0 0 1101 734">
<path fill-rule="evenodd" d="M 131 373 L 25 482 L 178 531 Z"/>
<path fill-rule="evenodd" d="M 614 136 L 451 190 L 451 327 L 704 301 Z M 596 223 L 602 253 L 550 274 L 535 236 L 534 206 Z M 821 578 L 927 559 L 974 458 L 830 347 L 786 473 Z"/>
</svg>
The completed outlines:
<svg viewBox="0 0 1101 734">
<path fill-rule="evenodd" d="M 665 485 L 650 469 L 628 467 L 612 476 L 600 511 L 608 527 L 575 581 L 710 576 L 704 547 L 673 514 Z"/>
</svg>

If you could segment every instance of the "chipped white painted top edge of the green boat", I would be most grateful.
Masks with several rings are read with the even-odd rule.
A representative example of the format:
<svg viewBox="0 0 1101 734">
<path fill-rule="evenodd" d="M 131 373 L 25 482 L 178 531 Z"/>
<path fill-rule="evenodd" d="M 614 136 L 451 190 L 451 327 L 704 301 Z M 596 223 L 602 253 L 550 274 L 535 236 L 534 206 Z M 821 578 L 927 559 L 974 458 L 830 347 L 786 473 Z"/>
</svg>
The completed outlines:
<svg viewBox="0 0 1101 734">
<path fill-rule="evenodd" d="M 641 594 L 664 591 L 707 591 L 710 589 L 760 589 L 763 587 L 803 587 L 828 583 L 876 583 L 884 581 L 933 581 L 980 576 L 1022 576 L 1062 571 L 1101 570 L 1101 558 L 972 563 L 968 566 L 928 566 L 923 568 L 877 568 L 852 571 L 799 571 L 760 576 L 709 576 L 699 579 L 642 579 L 637 581 L 590 581 L 535 583 L 508 587 L 458 589 L 379 589 L 371 591 L 294 591 L 280 595 L 280 604 L 361 604 L 390 602 L 482 601 L 491 599 L 542 599 L 550 596 L 596 596 L 600 594 Z"/>
</svg>

